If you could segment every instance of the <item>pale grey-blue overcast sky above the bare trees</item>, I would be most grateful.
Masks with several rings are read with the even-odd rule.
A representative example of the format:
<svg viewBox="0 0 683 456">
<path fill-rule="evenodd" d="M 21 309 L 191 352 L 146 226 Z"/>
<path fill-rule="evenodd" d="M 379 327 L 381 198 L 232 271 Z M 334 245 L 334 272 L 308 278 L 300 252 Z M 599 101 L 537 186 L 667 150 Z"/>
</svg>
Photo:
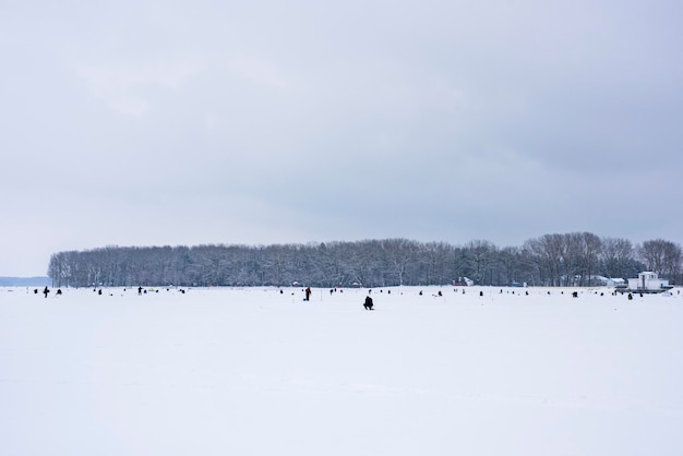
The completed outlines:
<svg viewBox="0 0 683 456">
<path fill-rule="evenodd" d="M 108 244 L 683 241 L 674 0 L 0 0 L 0 275 Z"/>
</svg>

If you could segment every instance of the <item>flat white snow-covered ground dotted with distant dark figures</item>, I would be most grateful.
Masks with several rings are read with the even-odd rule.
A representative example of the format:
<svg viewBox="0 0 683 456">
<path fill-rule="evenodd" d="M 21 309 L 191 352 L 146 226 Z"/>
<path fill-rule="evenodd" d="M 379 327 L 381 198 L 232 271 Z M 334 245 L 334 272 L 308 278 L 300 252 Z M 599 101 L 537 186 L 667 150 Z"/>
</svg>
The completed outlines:
<svg viewBox="0 0 683 456">
<path fill-rule="evenodd" d="M 678 290 L 419 290 L 0 288 L 0 454 L 683 454 Z"/>
</svg>

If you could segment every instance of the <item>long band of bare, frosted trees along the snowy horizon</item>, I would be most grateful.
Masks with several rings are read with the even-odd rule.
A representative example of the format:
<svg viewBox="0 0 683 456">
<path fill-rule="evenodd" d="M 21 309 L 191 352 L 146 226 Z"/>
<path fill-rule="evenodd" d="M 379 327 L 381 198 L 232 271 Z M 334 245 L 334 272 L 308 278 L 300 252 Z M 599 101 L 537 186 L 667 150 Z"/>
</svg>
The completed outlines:
<svg viewBox="0 0 683 456">
<path fill-rule="evenodd" d="M 544 235 L 522 247 L 486 240 L 464 245 L 408 239 L 308 244 L 117 247 L 58 252 L 48 276 L 57 287 L 451 285 L 592 286 L 652 271 L 683 280 L 681 245 L 633 244 L 590 232 Z"/>
</svg>

